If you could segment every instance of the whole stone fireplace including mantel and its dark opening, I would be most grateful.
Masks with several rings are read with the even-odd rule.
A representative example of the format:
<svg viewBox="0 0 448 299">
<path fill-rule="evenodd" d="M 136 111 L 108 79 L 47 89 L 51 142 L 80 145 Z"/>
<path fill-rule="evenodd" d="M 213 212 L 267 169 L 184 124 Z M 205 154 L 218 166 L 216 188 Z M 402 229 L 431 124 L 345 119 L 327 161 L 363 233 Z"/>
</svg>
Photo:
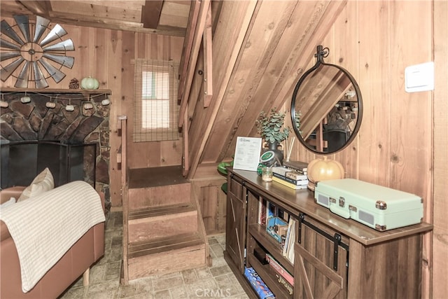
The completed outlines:
<svg viewBox="0 0 448 299">
<path fill-rule="evenodd" d="M 19 149 L 2 146 L 2 151 L 5 153 L 1 156 L 1 188 L 6 186 L 5 184 L 30 183 L 32 181 L 32 179 L 29 181 L 30 176 L 38 174 L 39 170 L 48 166 L 53 176 L 57 176 L 55 177 L 57 182 L 73 181 L 76 178 L 92 183 L 96 190 L 104 193 L 108 211 L 111 207 L 109 192 L 111 91 L 27 90 L 29 102 L 21 101 L 22 97 L 25 97 L 25 90 L 5 88 L 0 93 L 2 101 L 8 104 L 0 108 L 1 142 L 9 141 L 9 146 L 21 142 L 23 147 Z M 108 104 L 103 104 L 104 101 Z M 73 109 L 67 109 L 67 106 Z M 8 159 L 4 158 L 6 155 Z M 17 158 L 14 158 L 15 156 Z M 81 158 L 84 160 L 83 163 Z M 22 164 L 5 166 L 5 163 L 10 164 L 8 161 L 29 159 L 38 162 L 35 165 L 18 162 Z M 45 162 L 42 164 L 43 159 Z M 27 166 L 31 169 L 29 173 L 22 172 Z M 10 167 L 13 168 L 6 175 L 6 170 L 3 172 L 3 169 Z M 22 181 L 10 181 L 11 175 L 20 176 L 16 174 L 17 172 L 22 172 L 27 177 Z"/>
</svg>

